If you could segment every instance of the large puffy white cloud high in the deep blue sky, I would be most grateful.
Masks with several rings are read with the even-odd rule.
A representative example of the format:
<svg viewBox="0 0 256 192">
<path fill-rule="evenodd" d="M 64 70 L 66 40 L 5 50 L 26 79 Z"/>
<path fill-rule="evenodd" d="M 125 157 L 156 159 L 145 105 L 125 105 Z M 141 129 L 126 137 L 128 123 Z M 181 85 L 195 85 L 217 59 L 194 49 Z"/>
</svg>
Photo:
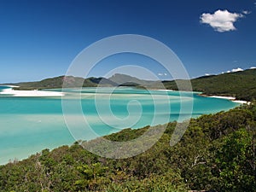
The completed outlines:
<svg viewBox="0 0 256 192">
<path fill-rule="evenodd" d="M 212 26 L 217 32 L 229 32 L 236 30 L 234 23 L 242 14 L 230 13 L 228 10 L 217 10 L 214 14 L 204 13 L 201 15 L 201 23 Z"/>
</svg>

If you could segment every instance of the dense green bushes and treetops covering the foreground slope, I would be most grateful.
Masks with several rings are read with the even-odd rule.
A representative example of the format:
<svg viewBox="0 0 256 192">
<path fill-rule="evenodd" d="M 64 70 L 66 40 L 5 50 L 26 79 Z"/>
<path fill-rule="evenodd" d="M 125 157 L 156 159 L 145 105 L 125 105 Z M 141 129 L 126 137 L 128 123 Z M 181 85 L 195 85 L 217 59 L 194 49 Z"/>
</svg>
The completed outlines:
<svg viewBox="0 0 256 192">
<path fill-rule="evenodd" d="M 154 147 L 125 160 L 96 156 L 78 143 L 44 149 L 0 166 L 0 191 L 256 191 L 256 102 L 191 119 L 181 141 L 170 147 L 175 125 L 167 125 Z M 147 129 L 108 139 L 131 140 Z"/>
</svg>

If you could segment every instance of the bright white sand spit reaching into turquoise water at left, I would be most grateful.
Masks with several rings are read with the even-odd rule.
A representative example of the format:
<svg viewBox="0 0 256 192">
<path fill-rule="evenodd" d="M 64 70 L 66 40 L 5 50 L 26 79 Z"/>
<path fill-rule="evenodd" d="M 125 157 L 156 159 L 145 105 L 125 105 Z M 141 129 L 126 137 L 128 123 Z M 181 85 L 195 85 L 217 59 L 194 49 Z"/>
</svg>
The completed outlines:
<svg viewBox="0 0 256 192">
<path fill-rule="evenodd" d="M 3 90 L 0 95 L 6 96 L 64 96 L 62 92 L 45 90 L 13 90 L 12 88 Z"/>
</svg>

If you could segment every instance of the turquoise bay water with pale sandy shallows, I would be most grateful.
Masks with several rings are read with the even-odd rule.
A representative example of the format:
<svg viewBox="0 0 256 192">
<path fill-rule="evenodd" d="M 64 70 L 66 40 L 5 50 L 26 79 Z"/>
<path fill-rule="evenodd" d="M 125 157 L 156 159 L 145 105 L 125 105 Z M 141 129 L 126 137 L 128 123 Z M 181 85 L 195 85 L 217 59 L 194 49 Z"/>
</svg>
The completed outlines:
<svg viewBox="0 0 256 192">
<path fill-rule="evenodd" d="M 6 87 L 0 87 L 0 91 L 3 89 Z M 65 91 L 67 91 L 67 98 L 65 97 L 63 101 L 70 105 L 66 115 L 73 118 L 78 131 L 81 131 L 79 132 L 81 137 L 76 139 L 83 140 L 95 138 L 95 135 L 90 134 L 90 128 L 86 128 L 87 131 L 85 129 L 84 132 L 86 125 L 79 120 L 79 111 L 73 108 L 78 102 L 76 96 L 79 92 L 81 92 L 84 118 L 97 136 L 107 135 L 127 127 L 136 129 L 145 125 L 177 120 L 181 106 L 180 94 L 177 91 L 148 91 L 131 88 L 114 90 L 112 94 L 110 94 L 113 91 L 111 88 L 102 88 L 97 94 L 95 88 Z M 224 99 L 197 96 L 196 93 L 183 93 L 183 104 L 186 105 L 191 101 L 194 102 L 192 117 L 204 113 L 217 113 L 239 105 Z M 107 110 L 108 106 L 114 117 Z M 170 106 L 171 111 L 166 110 Z M 140 111 L 142 113 L 139 113 Z M 185 110 L 181 114 L 181 119 L 188 117 L 186 113 Z M 129 119 L 125 119 L 127 117 Z M 152 119 L 155 119 L 154 122 Z M 109 125 L 106 125 L 105 120 L 108 120 Z M 63 117 L 61 97 L 0 95 L 0 164 L 26 158 L 44 148 L 72 144 L 74 141 Z"/>
</svg>

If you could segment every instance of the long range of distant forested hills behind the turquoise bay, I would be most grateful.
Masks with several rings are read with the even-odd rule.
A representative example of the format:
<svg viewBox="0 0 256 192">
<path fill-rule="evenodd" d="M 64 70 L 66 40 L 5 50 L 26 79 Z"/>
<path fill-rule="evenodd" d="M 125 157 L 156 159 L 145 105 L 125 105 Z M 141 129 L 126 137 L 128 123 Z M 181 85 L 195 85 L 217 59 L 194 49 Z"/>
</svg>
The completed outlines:
<svg viewBox="0 0 256 192">
<path fill-rule="evenodd" d="M 164 84 L 167 90 L 177 90 L 177 82 L 183 84 L 185 81 L 177 79 L 176 81 L 150 81 L 137 79 L 126 74 L 114 74 L 109 79 L 105 78 L 77 78 L 73 76 L 60 76 L 56 78 L 44 79 L 37 82 L 17 83 L 13 85 L 20 86 L 20 90 L 41 90 L 50 88 L 61 88 L 65 82 L 67 87 L 96 86 L 136 86 L 137 88 L 162 89 L 160 83 Z M 253 100 L 256 98 L 256 69 L 247 69 L 236 73 L 224 73 L 219 75 L 202 76 L 191 79 L 193 90 L 201 91 L 206 95 L 236 96 L 241 100 Z M 186 88 L 183 88 L 186 90 Z"/>
</svg>

